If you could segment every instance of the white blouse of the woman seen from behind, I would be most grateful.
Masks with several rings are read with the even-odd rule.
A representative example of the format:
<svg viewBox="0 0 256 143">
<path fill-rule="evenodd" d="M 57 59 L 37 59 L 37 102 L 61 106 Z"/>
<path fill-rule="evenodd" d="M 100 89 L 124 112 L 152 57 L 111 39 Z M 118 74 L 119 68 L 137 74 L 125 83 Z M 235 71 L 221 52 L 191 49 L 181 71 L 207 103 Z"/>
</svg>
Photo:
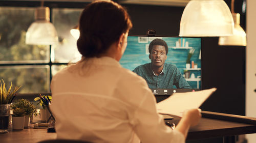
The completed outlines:
<svg viewBox="0 0 256 143">
<path fill-rule="evenodd" d="M 146 81 L 109 57 L 90 58 L 51 82 L 57 138 L 91 142 L 185 142 L 166 126 Z"/>
</svg>

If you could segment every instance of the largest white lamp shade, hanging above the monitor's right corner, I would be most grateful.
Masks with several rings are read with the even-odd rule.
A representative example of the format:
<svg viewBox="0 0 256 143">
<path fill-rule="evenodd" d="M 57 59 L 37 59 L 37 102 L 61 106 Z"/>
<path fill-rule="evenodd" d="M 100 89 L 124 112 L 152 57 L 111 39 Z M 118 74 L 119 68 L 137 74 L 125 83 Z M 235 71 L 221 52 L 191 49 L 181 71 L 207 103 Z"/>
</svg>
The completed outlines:
<svg viewBox="0 0 256 143">
<path fill-rule="evenodd" d="M 223 0 L 191 0 L 183 11 L 179 36 L 229 36 L 233 27 L 231 12 Z"/>
</svg>

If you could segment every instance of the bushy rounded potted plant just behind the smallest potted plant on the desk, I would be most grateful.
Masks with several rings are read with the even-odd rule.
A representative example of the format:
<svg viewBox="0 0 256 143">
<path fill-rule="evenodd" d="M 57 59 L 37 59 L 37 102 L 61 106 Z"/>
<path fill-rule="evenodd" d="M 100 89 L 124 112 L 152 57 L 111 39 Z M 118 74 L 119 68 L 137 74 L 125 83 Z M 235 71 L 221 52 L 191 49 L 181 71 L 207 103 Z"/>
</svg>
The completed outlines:
<svg viewBox="0 0 256 143">
<path fill-rule="evenodd" d="M 12 105 L 12 109 L 22 108 L 25 110 L 25 125 L 24 127 L 29 126 L 30 117 L 36 115 L 36 107 L 27 99 L 18 99 L 15 104 Z"/>
</svg>

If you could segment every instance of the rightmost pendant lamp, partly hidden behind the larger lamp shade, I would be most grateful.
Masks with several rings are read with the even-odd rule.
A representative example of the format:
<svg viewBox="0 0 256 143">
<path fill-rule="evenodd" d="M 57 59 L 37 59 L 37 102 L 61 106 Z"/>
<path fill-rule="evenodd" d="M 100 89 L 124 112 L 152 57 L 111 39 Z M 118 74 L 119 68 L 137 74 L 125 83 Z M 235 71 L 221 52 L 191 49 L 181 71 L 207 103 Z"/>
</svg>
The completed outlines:
<svg viewBox="0 0 256 143">
<path fill-rule="evenodd" d="M 234 45 L 234 46 L 246 46 L 246 33 L 240 26 L 240 14 L 234 13 L 233 5 L 234 1 L 231 1 L 231 12 L 234 19 L 234 33 L 232 36 L 219 37 L 219 45 Z"/>
</svg>

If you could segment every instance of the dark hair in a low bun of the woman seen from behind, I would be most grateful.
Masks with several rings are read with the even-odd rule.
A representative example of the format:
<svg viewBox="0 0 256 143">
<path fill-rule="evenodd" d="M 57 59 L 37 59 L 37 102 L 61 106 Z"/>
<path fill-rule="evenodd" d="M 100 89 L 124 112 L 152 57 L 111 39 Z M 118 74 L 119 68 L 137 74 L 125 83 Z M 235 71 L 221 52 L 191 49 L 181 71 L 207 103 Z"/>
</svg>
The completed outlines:
<svg viewBox="0 0 256 143">
<path fill-rule="evenodd" d="M 87 58 L 99 56 L 131 28 L 132 21 L 122 6 L 112 1 L 93 2 L 80 16 L 78 51 Z"/>
</svg>

